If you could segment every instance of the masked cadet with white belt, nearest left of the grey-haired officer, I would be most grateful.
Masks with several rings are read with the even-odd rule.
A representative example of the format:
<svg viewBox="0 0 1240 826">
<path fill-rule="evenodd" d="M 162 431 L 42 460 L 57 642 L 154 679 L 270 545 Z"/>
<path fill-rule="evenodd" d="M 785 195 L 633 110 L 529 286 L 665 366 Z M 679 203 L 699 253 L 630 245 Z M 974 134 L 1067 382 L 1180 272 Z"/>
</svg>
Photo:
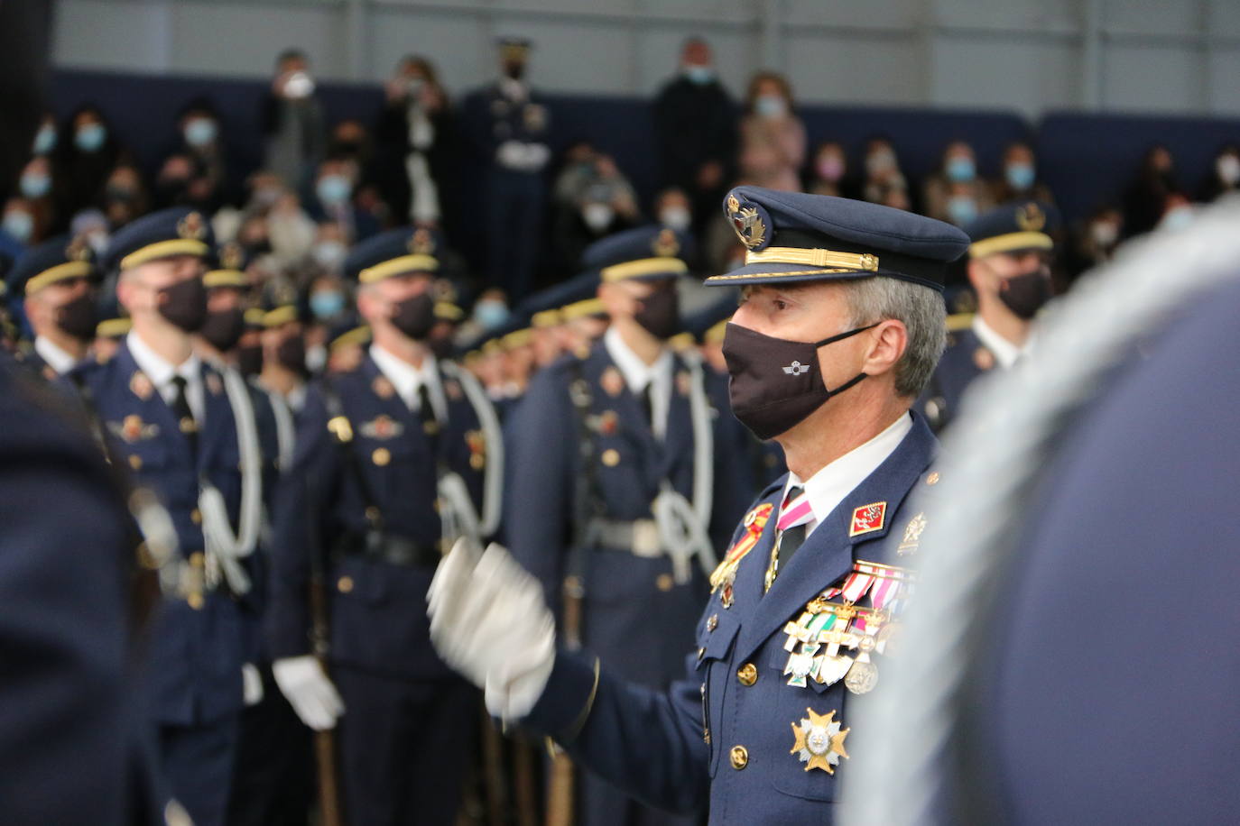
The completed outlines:
<svg viewBox="0 0 1240 826">
<path fill-rule="evenodd" d="M 650 227 L 587 250 L 611 326 L 534 376 L 508 430 L 513 556 L 552 606 L 573 592 L 565 638 L 660 690 L 682 670 L 714 547 L 754 493 L 733 476 L 738 457 L 715 450 L 739 426 L 712 407 L 701 362 L 666 344 L 681 328 L 681 248 Z M 593 776 L 582 799 L 585 824 L 652 820 Z"/>
</svg>

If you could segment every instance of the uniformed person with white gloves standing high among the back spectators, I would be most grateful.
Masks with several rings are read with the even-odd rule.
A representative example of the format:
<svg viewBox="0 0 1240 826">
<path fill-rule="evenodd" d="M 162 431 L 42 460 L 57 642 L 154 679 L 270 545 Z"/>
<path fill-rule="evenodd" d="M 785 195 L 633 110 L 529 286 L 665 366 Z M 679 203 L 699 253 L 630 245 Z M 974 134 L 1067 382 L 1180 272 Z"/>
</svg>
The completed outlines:
<svg viewBox="0 0 1240 826">
<path fill-rule="evenodd" d="M 551 159 L 547 104 L 529 88 L 529 41 L 498 42 L 502 74 L 465 99 L 464 126 L 490 168 L 486 185 L 486 249 L 490 284 L 515 302 L 529 290 L 538 263 L 546 199 L 543 170 Z"/>
</svg>

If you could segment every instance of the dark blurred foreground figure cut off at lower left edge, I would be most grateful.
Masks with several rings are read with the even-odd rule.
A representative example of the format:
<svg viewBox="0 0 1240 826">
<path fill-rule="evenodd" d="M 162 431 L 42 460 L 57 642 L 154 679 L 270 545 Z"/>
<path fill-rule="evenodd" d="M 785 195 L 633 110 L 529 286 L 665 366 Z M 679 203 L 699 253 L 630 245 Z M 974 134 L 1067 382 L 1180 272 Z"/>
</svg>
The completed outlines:
<svg viewBox="0 0 1240 826">
<path fill-rule="evenodd" d="M 61 398 L 0 364 L 0 800 L 6 824 L 130 824 L 128 515 Z M 136 805 L 135 805 L 136 804 Z"/>
</svg>

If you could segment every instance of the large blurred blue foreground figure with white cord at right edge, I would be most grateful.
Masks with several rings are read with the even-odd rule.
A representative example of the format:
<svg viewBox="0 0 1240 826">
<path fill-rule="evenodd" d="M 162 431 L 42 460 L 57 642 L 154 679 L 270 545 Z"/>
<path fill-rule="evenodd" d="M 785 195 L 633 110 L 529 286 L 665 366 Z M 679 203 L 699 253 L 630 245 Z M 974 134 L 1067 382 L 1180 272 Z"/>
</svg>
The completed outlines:
<svg viewBox="0 0 1240 826">
<path fill-rule="evenodd" d="M 1238 220 L 1121 254 L 966 401 L 847 822 L 1235 821 Z"/>
</svg>

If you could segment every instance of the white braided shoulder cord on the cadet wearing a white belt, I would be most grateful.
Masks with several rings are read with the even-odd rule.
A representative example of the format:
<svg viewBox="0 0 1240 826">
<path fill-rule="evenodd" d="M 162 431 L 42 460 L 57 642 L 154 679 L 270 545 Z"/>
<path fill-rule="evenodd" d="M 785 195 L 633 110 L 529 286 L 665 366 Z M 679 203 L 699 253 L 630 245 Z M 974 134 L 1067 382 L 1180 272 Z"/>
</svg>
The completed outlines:
<svg viewBox="0 0 1240 826">
<path fill-rule="evenodd" d="M 697 556 L 702 570 L 714 570 L 714 549 L 707 526 L 714 498 L 714 435 L 711 430 L 711 406 L 706 399 L 702 359 L 683 354 L 689 370 L 689 414 L 693 420 L 693 504 L 675 490 L 667 479 L 660 483 L 658 495 L 651 505 L 658 540 L 672 557 L 672 573 L 681 585 L 689 581 L 689 561 Z"/>
</svg>

